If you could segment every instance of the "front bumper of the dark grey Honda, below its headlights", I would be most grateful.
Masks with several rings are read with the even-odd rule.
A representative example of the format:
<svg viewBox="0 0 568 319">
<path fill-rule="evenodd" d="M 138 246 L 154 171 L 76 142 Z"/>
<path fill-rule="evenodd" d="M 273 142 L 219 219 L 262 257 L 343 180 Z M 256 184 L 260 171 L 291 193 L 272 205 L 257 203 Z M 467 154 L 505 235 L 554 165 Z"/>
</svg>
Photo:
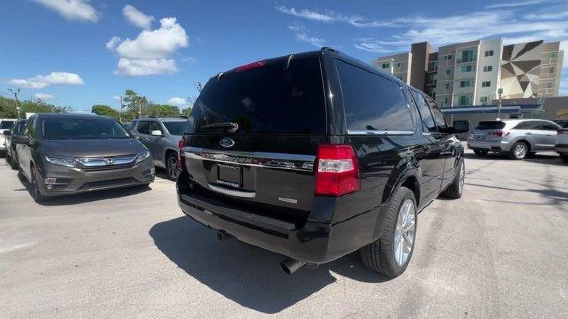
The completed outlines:
<svg viewBox="0 0 568 319">
<path fill-rule="evenodd" d="M 41 168 L 40 177 L 41 195 L 56 196 L 149 184 L 154 181 L 155 169 L 152 158 L 144 159 L 129 169 L 105 171 L 83 171 L 74 167 L 45 163 Z M 56 178 L 57 184 L 45 185 L 43 182 L 45 178 Z"/>
</svg>

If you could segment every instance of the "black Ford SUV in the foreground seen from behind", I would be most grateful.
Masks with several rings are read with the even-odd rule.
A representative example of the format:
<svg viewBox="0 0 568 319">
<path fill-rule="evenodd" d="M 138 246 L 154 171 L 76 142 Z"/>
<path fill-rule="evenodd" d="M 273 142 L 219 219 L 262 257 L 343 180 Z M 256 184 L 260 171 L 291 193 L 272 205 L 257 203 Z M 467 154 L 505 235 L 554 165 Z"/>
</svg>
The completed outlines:
<svg viewBox="0 0 568 319">
<path fill-rule="evenodd" d="M 449 127 L 427 95 L 333 49 L 219 73 L 187 121 L 182 211 L 286 255 L 287 273 L 360 249 L 398 276 L 417 212 L 462 195 L 467 121 Z"/>
</svg>

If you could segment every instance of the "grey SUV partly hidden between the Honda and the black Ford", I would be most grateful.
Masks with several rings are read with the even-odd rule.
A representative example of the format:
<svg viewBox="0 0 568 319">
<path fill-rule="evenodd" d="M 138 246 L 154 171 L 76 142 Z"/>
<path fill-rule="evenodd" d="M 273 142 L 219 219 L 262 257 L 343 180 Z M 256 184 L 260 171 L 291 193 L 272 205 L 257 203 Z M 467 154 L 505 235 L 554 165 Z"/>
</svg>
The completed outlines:
<svg viewBox="0 0 568 319">
<path fill-rule="evenodd" d="M 128 131 L 152 154 L 154 165 L 166 169 L 175 180 L 179 174 L 178 143 L 187 123 L 182 118 L 141 118 L 132 120 Z"/>
</svg>

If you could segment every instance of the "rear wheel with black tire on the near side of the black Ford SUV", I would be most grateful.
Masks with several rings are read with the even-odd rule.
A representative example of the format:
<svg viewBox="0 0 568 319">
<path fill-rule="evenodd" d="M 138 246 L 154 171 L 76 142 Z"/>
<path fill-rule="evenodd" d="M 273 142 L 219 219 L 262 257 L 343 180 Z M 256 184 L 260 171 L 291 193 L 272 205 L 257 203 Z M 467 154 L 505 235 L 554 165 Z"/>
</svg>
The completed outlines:
<svg viewBox="0 0 568 319">
<path fill-rule="evenodd" d="M 396 278 L 406 270 L 416 242 L 416 207 L 416 199 L 411 190 L 399 187 L 395 191 L 381 237 L 360 250 L 366 267 L 390 278 Z M 405 212 L 409 215 L 404 215 Z M 408 216 L 404 219 L 406 223 L 403 220 L 404 216 Z M 401 227 L 407 228 L 407 231 L 400 232 Z M 411 241 L 410 247 L 408 240 Z M 403 254 L 404 250 L 407 250 L 406 256 Z"/>
</svg>

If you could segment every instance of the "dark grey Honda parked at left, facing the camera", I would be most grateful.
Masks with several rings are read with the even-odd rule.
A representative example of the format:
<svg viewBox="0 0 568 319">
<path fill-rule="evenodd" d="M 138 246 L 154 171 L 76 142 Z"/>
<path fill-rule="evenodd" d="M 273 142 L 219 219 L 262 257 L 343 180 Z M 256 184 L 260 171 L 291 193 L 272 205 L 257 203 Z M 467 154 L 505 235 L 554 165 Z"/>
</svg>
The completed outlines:
<svg viewBox="0 0 568 319">
<path fill-rule="evenodd" d="M 108 117 L 36 114 L 28 119 L 23 135 L 12 141 L 20 173 L 32 184 L 36 202 L 154 181 L 148 149 Z"/>
</svg>

